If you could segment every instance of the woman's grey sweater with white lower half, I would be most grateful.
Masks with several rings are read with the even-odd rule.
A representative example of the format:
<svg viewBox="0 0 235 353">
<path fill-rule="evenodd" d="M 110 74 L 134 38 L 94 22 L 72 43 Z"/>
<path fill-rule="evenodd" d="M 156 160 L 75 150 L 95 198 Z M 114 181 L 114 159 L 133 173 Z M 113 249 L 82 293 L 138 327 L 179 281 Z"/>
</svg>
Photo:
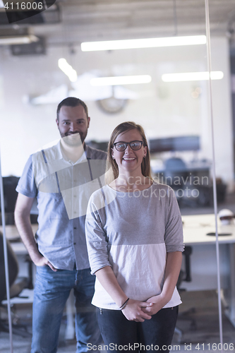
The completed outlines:
<svg viewBox="0 0 235 353">
<path fill-rule="evenodd" d="M 146 301 L 160 294 L 167 252 L 183 251 L 179 206 L 174 191 L 163 184 L 128 193 L 104 186 L 90 198 L 85 227 L 91 273 L 112 266 L 131 299 Z M 97 279 L 92 304 L 119 309 Z M 175 288 L 164 307 L 178 304 Z"/>
</svg>

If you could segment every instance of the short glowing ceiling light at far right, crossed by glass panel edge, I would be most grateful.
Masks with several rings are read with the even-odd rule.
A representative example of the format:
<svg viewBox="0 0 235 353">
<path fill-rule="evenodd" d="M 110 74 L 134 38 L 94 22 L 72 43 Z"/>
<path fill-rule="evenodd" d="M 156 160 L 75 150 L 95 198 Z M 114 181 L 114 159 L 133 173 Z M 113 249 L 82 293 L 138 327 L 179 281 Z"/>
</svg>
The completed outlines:
<svg viewBox="0 0 235 353">
<path fill-rule="evenodd" d="M 224 77 L 222 71 L 211 71 L 210 78 L 212 80 L 221 80 Z M 182 72 L 182 73 L 164 73 L 162 75 L 164 82 L 183 82 L 183 81 L 200 81 L 209 80 L 209 72 Z"/>
</svg>

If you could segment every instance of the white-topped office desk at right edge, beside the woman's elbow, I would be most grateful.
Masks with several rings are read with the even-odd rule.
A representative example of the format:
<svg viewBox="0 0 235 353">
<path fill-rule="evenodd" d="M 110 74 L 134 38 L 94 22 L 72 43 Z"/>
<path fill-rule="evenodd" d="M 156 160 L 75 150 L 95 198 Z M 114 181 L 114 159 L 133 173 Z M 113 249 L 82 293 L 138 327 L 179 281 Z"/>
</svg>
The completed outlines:
<svg viewBox="0 0 235 353">
<path fill-rule="evenodd" d="M 215 236 L 215 215 L 183 216 L 183 238 L 186 245 L 193 247 L 191 255 L 191 282 L 183 282 L 186 290 L 217 289 L 217 262 Z M 219 268 L 221 287 L 227 302 L 226 314 L 235 327 L 235 225 L 222 225 L 218 220 Z"/>
</svg>

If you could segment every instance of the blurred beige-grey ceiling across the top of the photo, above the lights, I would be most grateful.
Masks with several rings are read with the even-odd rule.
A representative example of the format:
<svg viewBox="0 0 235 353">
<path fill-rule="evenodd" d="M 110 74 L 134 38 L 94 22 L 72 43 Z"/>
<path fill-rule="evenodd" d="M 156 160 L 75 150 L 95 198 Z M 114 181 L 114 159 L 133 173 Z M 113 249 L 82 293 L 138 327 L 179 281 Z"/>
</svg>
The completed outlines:
<svg viewBox="0 0 235 353">
<path fill-rule="evenodd" d="M 209 6 L 211 34 L 227 34 L 235 42 L 235 0 L 209 0 Z M 0 10 L 0 37 L 28 28 L 46 37 L 47 46 L 205 34 L 204 0 L 57 0 L 47 11 L 11 25 Z"/>
</svg>

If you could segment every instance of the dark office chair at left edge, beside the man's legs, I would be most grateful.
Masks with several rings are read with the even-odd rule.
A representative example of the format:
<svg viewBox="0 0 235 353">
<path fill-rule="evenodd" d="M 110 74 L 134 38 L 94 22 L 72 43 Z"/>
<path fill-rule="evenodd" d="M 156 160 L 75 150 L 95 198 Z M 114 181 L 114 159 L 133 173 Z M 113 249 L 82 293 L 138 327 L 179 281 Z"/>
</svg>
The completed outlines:
<svg viewBox="0 0 235 353">
<path fill-rule="evenodd" d="M 22 277 L 16 280 L 18 275 L 18 260 L 16 258 L 11 244 L 7 240 L 7 255 L 8 255 L 8 275 L 10 285 L 10 297 L 18 297 L 23 289 L 28 287 L 28 278 Z M 1 302 L 6 299 L 6 276 L 4 265 L 4 239 L 3 234 L 0 232 L 0 306 L 4 307 Z M 17 321 L 17 320 L 15 320 Z M 22 330 L 23 329 L 23 330 Z M 0 331 L 8 332 L 8 324 L 0 318 Z M 28 337 L 31 335 L 27 332 L 26 325 L 14 323 L 13 320 L 13 333 Z"/>
</svg>

